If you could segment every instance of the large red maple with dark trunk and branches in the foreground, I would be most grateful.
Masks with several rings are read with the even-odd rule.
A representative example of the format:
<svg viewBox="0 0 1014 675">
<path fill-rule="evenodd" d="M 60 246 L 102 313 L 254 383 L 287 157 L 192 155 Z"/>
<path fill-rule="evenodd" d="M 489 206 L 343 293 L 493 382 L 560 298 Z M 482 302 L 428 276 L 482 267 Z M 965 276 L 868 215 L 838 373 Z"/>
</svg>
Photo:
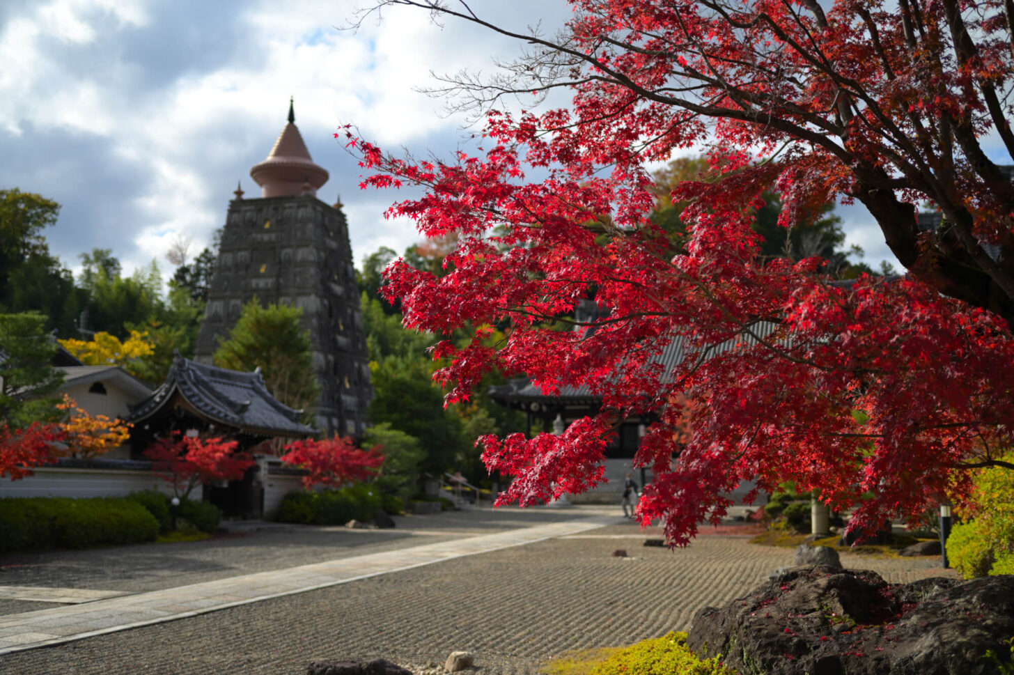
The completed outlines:
<svg viewBox="0 0 1014 675">
<path fill-rule="evenodd" d="M 858 507 L 853 526 L 866 528 L 960 498 L 973 467 L 1014 468 L 999 458 L 1014 441 L 1009 3 L 572 0 L 553 39 L 491 26 L 463 3 L 380 4 L 528 43 L 502 78 L 452 84 L 474 103 L 572 92 L 565 108 L 490 111 L 481 155 L 449 162 L 348 132 L 376 171 L 364 185 L 426 188 L 389 215 L 457 237 L 449 273 L 396 261 L 384 288 L 411 327 L 473 326 L 469 345 L 435 348 L 447 400 L 494 366 L 547 393 L 601 397 L 563 435 L 484 439 L 487 465 L 517 476 L 500 503 L 596 484 L 617 422 L 646 415 L 658 421 L 635 464 L 656 477 L 639 513 L 665 516 L 675 543 L 721 517 L 743 478 L 817 489 Z M 649 220 L 645 164 L 691 147 L 713 179 L 676 186 L 691 204 L 674 235 Z M 545 177 L 527 181 L 528 167 Z M 819 259 L 760 259 L 751 207 L 772 186 L 785 227 L 861 202 L 907 274 L 842 285 Z M 917 217 L 923 205 L 939 225 Z M 586 299 L 600 318 L 560 330 Z M 492 325 L 509 336 L 490 345 Z M 676 338 L 684 358 L 665 370 Z"/>
</svg>

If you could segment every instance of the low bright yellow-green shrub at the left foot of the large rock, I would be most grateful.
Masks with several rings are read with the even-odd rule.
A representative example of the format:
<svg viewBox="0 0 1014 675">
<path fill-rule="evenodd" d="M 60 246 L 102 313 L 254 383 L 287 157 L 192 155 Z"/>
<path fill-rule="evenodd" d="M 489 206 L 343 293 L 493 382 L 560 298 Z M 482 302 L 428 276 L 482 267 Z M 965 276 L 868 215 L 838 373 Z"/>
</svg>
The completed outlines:
<svg viewBox="0 0 1014 675">
<path fill-rule="evenodd" d="M 592 675 L 736 675 L 719 657 L 699 659 L 686 647 L 685 632 L 670 632 L 623 649 L 591 671 Z"/>
</svg>

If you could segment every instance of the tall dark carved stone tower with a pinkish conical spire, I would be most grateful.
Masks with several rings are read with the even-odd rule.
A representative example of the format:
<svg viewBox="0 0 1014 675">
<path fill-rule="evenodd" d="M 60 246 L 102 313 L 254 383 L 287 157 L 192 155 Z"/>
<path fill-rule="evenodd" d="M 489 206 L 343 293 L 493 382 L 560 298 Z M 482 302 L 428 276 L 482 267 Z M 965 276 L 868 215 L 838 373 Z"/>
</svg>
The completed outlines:
<svg viewBox="0 0 1014 675">
<path fill-rule="evenodd" d="M 289 123 L 250 175 L 261 199 L 244 200 L 237 186 L 229 203 L 197 359 L 211 363 L 217 338 L 254 296 L 301 307 L 322 390 L 316 426 L 361 437 L 372 389 L 348 225 L 340 203 L 316 199 L 328 171 L 310 159 L 291 102 Z"/>
</svg>

